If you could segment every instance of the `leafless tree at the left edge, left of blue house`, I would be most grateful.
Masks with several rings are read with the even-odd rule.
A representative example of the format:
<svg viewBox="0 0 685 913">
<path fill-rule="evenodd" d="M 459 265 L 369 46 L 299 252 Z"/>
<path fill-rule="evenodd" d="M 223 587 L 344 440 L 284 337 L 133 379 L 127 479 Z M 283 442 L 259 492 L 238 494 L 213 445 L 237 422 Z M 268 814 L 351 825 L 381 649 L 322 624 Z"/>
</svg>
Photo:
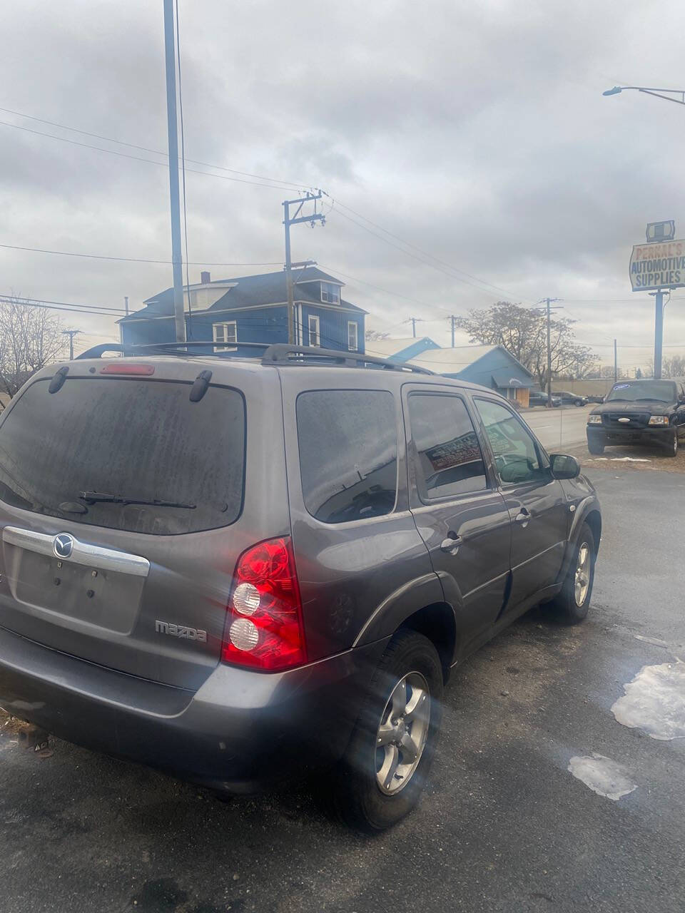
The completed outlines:
<svg viewBox="0 0 685 913">
<path fill-rule="evenodd" d="M 10 399 L 31 374 L 54 361 L 64 346 L 59 318 L 13 294 L 0 301 L 0 391 Z"/>
</svg>

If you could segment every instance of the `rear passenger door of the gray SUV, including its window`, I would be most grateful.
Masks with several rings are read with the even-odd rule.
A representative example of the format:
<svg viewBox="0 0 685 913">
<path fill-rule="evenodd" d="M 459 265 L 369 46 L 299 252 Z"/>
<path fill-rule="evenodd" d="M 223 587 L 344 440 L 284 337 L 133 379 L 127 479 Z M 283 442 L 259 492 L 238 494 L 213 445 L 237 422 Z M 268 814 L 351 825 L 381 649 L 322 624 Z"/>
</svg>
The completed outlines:
<svg viewBox="0 0 685 913">
<path fill-rule="evenodd" d="M 489 480 L 463 396 L 452 387 L 406 384 L 403 404 L 410 508 L 466 648 L 500 614 L 511 520 Z"/>
</svg>

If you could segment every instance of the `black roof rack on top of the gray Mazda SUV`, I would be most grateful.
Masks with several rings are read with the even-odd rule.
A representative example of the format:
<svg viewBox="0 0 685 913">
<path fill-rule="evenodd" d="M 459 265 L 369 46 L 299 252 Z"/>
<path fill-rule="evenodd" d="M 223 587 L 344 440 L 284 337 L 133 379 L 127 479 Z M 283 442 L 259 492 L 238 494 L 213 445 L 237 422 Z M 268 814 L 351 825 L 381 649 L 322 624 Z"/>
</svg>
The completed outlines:
<svg viewBox="0 0 685 913">
<path fill-rule="evenodd" d="M 120 352 L 121 355 L 190 355 L 195 354 L 193 349 L 212 347 L 224 351 L 217 352 L 222 356 L 236 356 L 239 349 L 261 349 L 263 355 L 261 363 L 265 365 L 287 364 L 319 364 L 319 365 L 344 365 L 345 367 L 363 368 L 377 365 L 386 371 L 401 371 L 415 374 L 434 374 L 427 368 L 419 368 L 416 364 L 391 362 L 387 358 L 377 355 L 366 355 L 364 352 L 344 352 L 339 349 L 321 349 L 319 346 L 290 345 L 287 342 L 235 342 L 235 351 L 226 352 L 225 341 L 190 341 L 190 342 L 153 342 L 144 345 L 124 346 L 120 343 L 105 342 L 93 346 L 86 352 L 81 352 L 76 361 L 84 358 L 101 358 L 105 352 Z M 190 350 L 190 351 L 188 351 Z M 204 354 L 204 352 L 198 352 Z M 240 357 L 238 354 L 237 357 Z"/>
</svg>

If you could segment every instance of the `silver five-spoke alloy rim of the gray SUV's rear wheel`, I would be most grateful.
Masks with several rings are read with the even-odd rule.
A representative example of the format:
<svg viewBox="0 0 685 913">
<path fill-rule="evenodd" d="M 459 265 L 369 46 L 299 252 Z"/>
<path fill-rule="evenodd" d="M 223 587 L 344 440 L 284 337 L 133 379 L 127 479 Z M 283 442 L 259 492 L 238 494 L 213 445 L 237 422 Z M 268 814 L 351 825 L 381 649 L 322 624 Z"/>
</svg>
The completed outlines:
<svg viewBox="0 0 685 913">
<path fill-rule="evenodd" d="M 397 682 L 385 704 L 375 739 L 375 776 L 386 795 L 404 789 L 426 747 L 430 690 L 420 672 Z"/>
</svg>

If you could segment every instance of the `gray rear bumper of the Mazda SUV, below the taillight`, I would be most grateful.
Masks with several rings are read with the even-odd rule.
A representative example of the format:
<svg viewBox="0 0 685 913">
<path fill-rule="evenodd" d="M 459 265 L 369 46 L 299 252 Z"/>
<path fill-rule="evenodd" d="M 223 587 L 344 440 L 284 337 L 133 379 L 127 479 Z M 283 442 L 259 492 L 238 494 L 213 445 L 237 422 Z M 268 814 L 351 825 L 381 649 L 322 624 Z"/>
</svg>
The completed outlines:
<svg viewBox="0 0 685 913">
<path fill-rule="evenodd" d="M 342 756 L 385 644 L 281 673 L 220 665 L 194 693 L 0 628 L 0 706 L 86 748 L 255 792 Z"/>
</svg>

